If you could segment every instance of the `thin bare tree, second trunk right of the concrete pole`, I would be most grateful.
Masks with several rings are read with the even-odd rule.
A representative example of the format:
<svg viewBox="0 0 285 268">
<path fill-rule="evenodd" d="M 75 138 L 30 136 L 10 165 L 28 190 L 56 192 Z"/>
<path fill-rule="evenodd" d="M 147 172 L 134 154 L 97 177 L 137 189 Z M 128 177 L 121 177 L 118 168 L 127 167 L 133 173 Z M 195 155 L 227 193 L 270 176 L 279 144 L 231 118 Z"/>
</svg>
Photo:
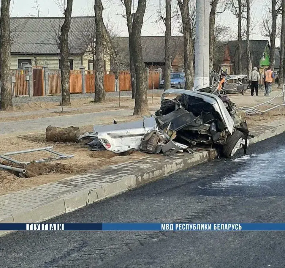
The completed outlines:
<svg viewBox="0 0 285 268">
<path fill-rule="evenodd" d="M 245 18 L 244 12 L 246 11 L 245 0 L 230 0 L 231 12 L 238 18 L 238 73 L 242 72 L 242 62 L 241 62 L 241 41 L 242 41 L 242 19 Z"/>
</svg>

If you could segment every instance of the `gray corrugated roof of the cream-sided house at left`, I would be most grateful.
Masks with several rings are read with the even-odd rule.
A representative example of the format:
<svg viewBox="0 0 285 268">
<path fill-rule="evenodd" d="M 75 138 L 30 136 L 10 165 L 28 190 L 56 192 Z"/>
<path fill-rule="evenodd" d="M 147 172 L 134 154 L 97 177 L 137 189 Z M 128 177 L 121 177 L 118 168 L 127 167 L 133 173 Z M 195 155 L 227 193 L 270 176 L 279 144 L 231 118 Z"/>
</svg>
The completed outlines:
<svg viewBox="0 0 285 268">
<path fill-rule="evenodd" d="M 11 53 L 14 54 L 58 54 L 58 36 L 64 18 L 10 18 Z M 86 51 L 88 35 L 95 32 L 94 17 L 72 17 L 68 35 L 71 54 Z M 85 30 L 86 29 L 86 30 Z"/>
</svg>

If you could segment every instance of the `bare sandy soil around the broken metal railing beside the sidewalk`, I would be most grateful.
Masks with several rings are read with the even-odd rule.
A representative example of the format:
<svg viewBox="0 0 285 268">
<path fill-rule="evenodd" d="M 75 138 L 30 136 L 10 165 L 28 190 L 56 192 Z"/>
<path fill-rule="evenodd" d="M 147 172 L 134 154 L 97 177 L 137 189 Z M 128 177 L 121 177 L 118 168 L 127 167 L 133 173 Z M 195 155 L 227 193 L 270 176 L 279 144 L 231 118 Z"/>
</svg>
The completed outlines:
<svg viewBox="0 0 285 268">
<path fill-rule="evenodd" d="M 121 122 L 131 122 L 140 119 L 141 116 L 126 116 Z M 80 128 L 81 133 L 91 131 L 93 126 Z M 78 143 L 55 143 L 47 142 L 44 134 L 23 135 L 12 138 L 0 139 L 0 154 L 11 151 L 18 151 L 32 148 L 42 148 L 53 146 L 55 151 L 66 155 L 75 155 L 72 158 L 58 161 L 51 161 L 43 164 L 31 163 L 30 165 L 13 165 L 27 169 L 29 178 L 19 178 L 9 171 L 0 171 L 0 195 L 6 193 L 42 185 L 49 182 L 58 181 L 66 178 L 69 174 L 80 174 L 94 170 L 96 168 L 105 168 L 108 165 L 124 163 L 147 156 L 142 152 L 134 152 L 129 155 L 118 155 L 109 151 L 92 152 L 84 144 Z M 29 154 L 14 155 L 13 158 L 20 161 L 33 161 L 46 157 L 51 157 L 48 152 L 34 152 Z M 1 160 L 0 160 L 1 162 Z M 2 164 L 12 165 L 7 161 Z"/>
</svg>

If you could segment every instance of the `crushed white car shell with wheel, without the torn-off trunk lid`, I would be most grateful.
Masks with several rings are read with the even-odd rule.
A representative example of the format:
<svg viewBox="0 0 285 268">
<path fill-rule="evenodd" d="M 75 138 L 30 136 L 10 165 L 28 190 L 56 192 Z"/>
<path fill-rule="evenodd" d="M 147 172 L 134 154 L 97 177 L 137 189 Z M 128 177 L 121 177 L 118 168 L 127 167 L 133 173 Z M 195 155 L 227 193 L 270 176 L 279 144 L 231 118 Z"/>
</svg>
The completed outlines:
<svg viewBox="0 0 285 268">
<path fill-rule="evenodd" d="M 167 94 L 178 96 L 167 99 Z M 246 122 L 236 114 L 235 104 L 226 95 L 169 89 L 155 115 L 162 129 L 171 122 L 175 140 L 183 144 L 216 144 L 226 157 L 248 145 Z"/>
</svg>

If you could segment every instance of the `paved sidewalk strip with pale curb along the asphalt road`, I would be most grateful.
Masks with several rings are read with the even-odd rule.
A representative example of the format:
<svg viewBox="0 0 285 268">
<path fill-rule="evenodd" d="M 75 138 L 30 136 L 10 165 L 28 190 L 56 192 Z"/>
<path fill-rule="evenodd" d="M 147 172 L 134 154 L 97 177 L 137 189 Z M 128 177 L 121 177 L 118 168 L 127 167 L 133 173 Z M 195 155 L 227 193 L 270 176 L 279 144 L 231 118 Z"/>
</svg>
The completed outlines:
<svg viewBox="0 0 285 268">
<path fill-rule="evenodd" d="M 285 131 L 285 119 L 251 129 L 250 144 Z M 0 196 L 0 223 L 41 222 L 118 195 L 164 175 L 189 168 L 217 156 L 215 149 L 195 148 L 172 157 L 149 155 L 140 160 L 96 169 L 57 182 Z M 0 232 L 0 235 L 7 232 Z"/>
</svg>

